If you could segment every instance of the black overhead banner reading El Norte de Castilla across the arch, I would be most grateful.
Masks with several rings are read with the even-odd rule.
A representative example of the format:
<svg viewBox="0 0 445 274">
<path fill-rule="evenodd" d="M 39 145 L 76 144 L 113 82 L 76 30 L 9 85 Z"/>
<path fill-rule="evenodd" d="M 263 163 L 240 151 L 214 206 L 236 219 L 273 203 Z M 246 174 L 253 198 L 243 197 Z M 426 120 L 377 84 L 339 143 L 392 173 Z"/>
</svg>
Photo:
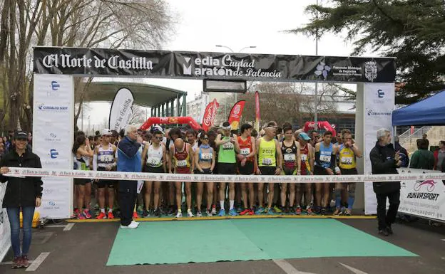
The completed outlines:
<svg viewBox="0 0 445 274">
<path fill-rule="evenodd" d="M 34 73 L 394 83 L 394 58 L 34 48 Z"/>
</svg>

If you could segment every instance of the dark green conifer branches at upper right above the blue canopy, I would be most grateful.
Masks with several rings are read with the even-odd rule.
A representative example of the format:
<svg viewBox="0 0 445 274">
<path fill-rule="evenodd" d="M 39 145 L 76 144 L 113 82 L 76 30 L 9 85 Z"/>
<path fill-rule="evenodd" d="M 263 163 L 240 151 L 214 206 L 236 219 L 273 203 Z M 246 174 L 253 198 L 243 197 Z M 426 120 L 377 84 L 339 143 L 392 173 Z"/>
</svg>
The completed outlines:
<svg viewBox="0 0 445 274">
<path fill-rule="evenodd" d="M 329 6 L 328 6 L 329 5 Z M 410 104 L 445 88 L 443 0 L 332 0 L 310 5 L 310 23 L 290 33 L 322 36 L 347 31 L 352 55 L 367 50 L 397 58 L 397 104 Z"/>
</svg>

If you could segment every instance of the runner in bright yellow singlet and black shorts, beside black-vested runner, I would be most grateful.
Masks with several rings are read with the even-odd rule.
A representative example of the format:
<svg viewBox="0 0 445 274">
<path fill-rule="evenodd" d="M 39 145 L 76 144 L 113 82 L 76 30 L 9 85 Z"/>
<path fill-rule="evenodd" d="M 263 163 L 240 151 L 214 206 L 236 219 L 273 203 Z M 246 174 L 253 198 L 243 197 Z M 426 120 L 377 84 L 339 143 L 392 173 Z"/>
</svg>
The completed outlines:
<svg viewBox="0 0 445 274">
<path fill-rule="evenodd" d="M 272 123 L 268 123 L 265 127 L 265 136 L 257 139 L 256 147 L 258 148 L 258 175 L 279 175 L 282 167 L 282 153 L 280 144 L 275 139 L 277 127 Z M 269 194 L 267 195 L 267 214 L 273 214 L 272 201 L 274 196 L 274 183 L 268 183 Z M 258 183 L 258 204 L 259 208 L 255 214 L 262 214 L 265 209 L 263 204 L 263 187 L 264 183 Z"/>
</svg>

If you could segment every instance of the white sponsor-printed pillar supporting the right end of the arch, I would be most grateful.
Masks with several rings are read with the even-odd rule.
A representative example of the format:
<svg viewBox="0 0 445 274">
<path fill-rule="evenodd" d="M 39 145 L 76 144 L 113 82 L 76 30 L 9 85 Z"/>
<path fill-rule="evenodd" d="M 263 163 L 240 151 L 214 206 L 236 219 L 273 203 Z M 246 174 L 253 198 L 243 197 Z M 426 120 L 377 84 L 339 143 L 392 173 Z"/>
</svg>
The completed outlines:
<svg viewBox="0 0 445 274">
<path fill-rule="evenodd" d="M 369 152 L 377 142 L 377 130 L 392 130 L 394 83 L 364 84 L 364 174 L 371 174 Z M 364 214 L 377 214 L 377 199 L 372 184 L 364 184 Z"/>
</svg>

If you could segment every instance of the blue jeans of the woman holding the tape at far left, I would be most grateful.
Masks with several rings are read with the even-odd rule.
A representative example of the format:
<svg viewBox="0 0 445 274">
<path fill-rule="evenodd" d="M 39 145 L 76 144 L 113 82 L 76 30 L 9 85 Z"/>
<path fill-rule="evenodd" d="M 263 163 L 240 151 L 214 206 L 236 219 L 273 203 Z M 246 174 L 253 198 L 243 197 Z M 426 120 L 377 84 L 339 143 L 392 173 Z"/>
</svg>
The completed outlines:
<svg viewBox="0 0 445 274">
<path fill-rule="evenodd" d="M 31 228 L 34 216 L 34 206 L 25 206 L 21 209 L 23 213 L 23 243 L 20 253 L 20 208 L 7 207 L 9 226 L 11 227 L 11 246 L 14 251 L 14 257 L 28 255 L 29 246 L 31 246 Z"/>
</svg>

